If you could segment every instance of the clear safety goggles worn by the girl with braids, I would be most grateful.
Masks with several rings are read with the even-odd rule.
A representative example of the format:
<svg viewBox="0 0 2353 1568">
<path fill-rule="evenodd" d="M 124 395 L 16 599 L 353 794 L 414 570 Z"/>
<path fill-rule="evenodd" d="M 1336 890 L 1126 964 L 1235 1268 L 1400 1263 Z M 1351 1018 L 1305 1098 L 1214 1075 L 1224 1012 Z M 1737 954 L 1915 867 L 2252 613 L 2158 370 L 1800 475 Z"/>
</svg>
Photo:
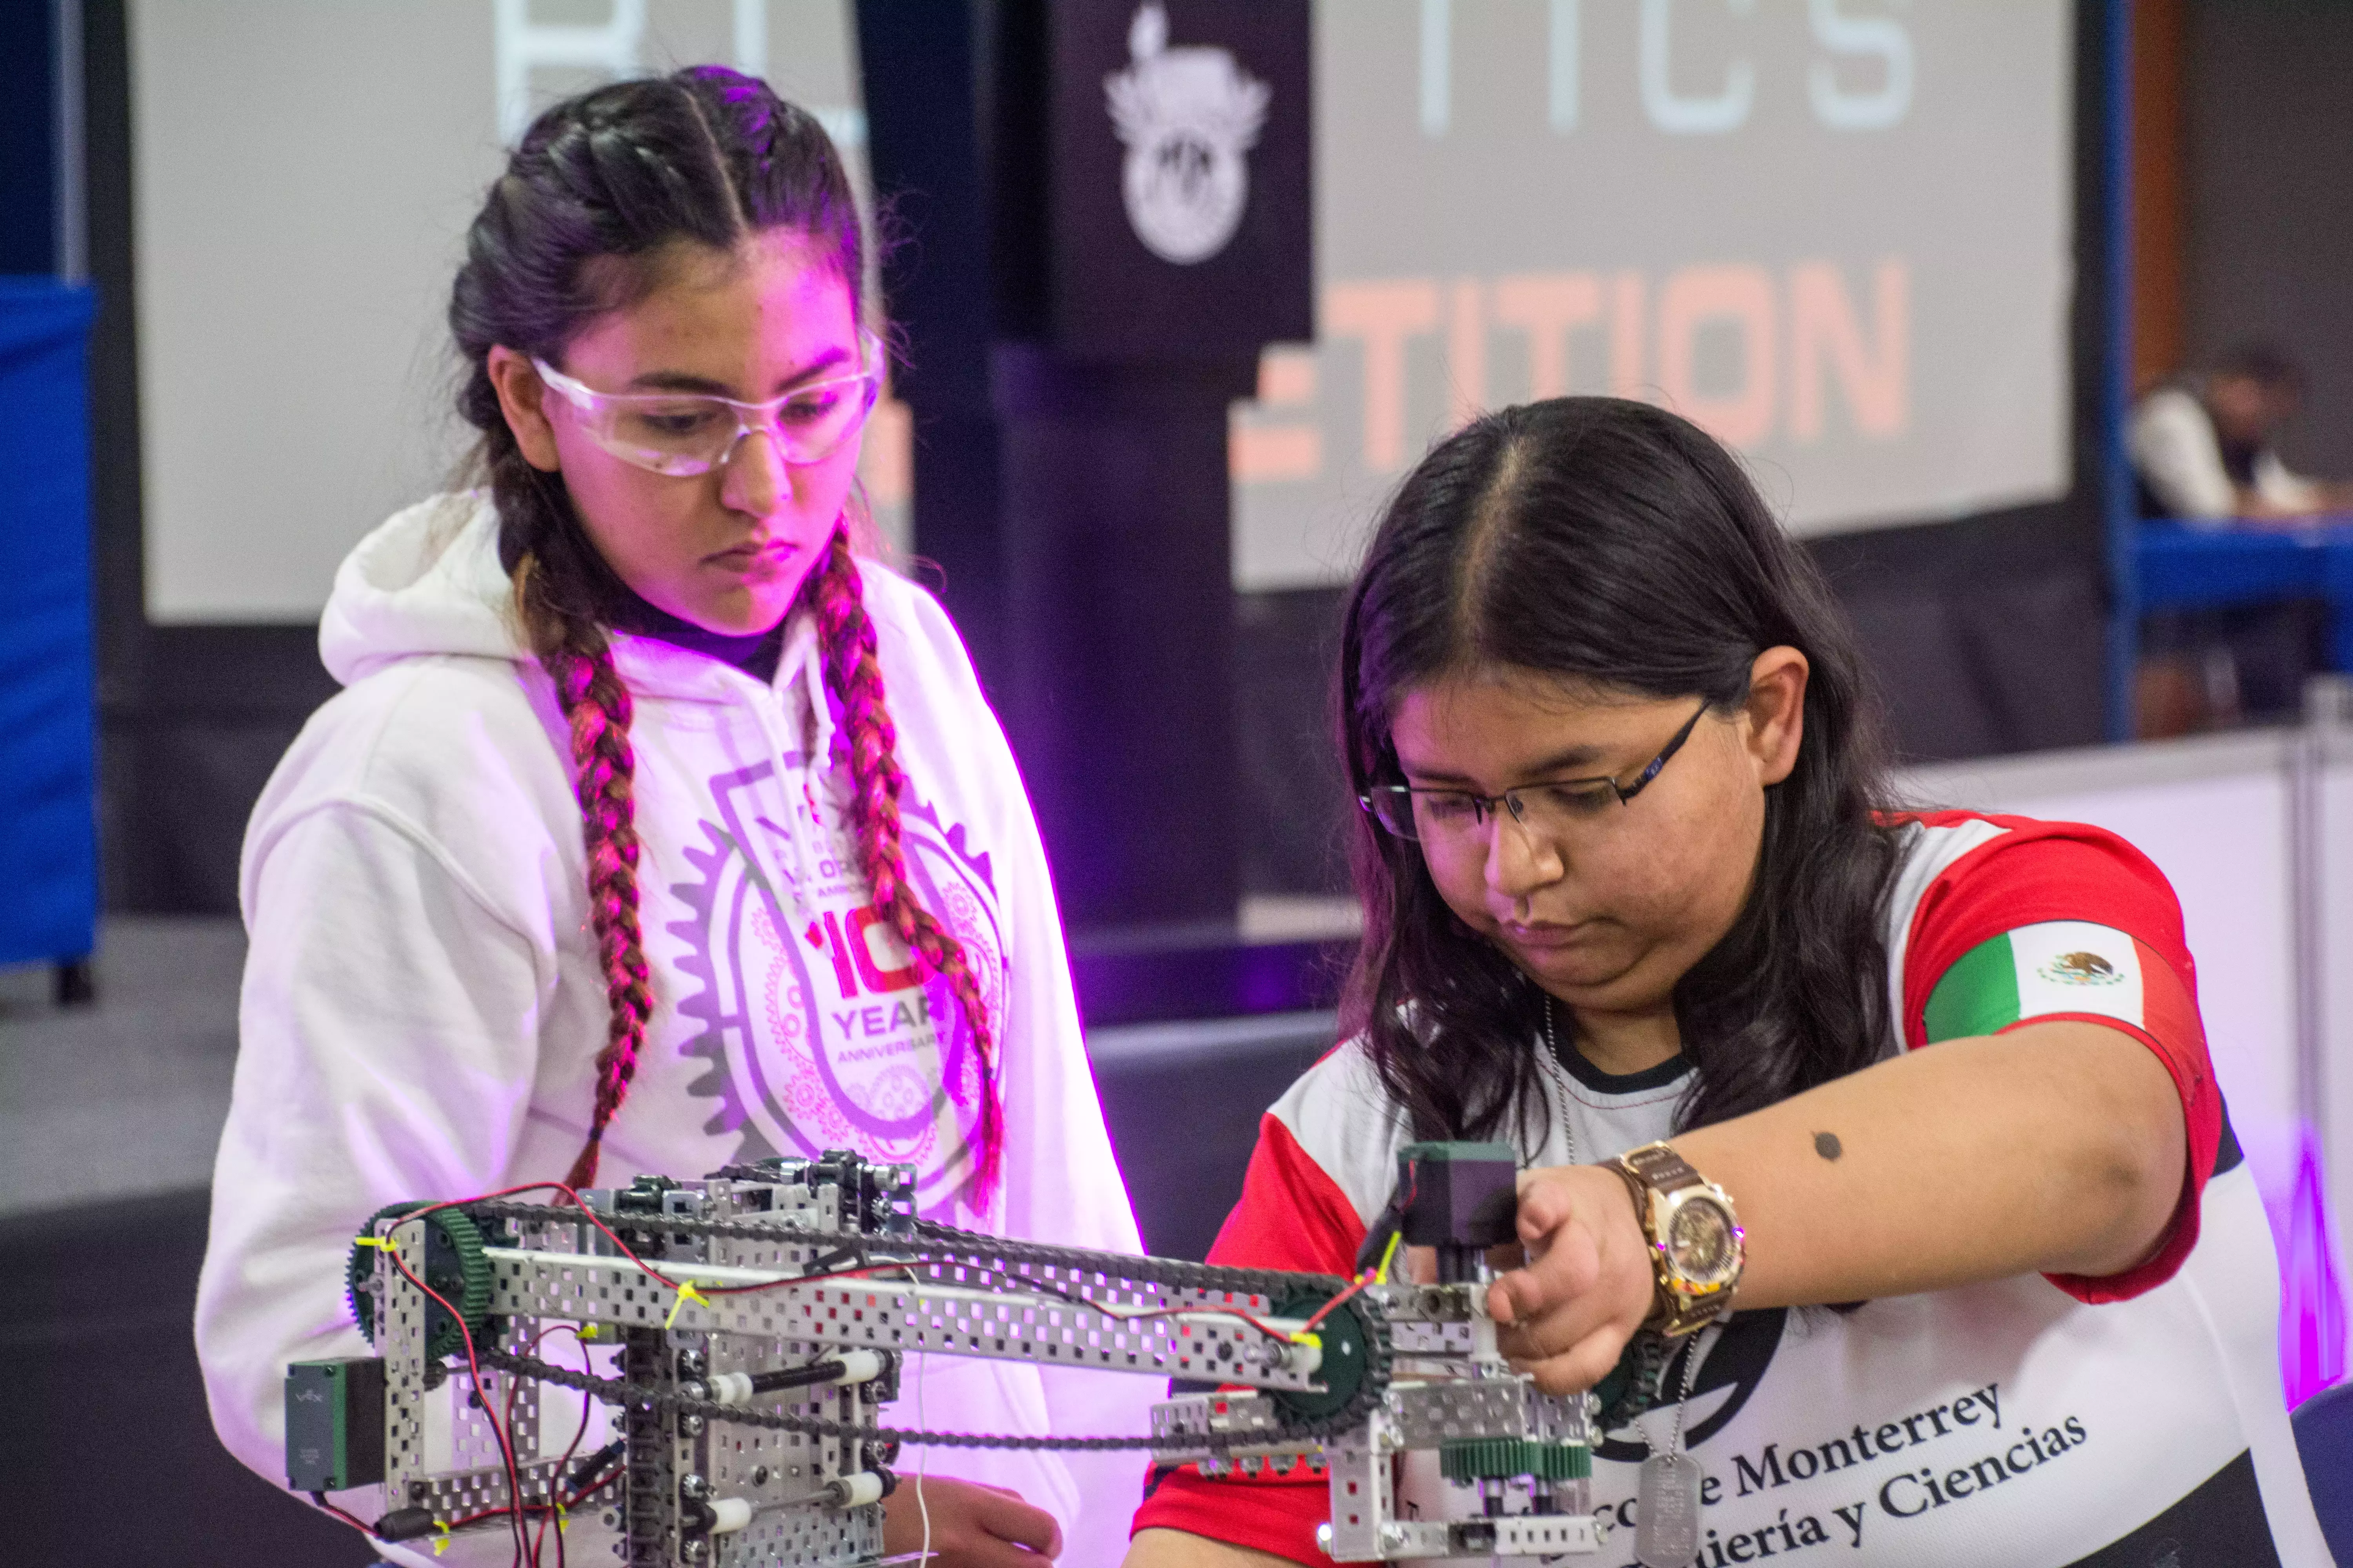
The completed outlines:
<svg viewBox="0 0 2353 1568">
<path fill-rule="evenodd" d="M 598 393 L 546 360 L 532 369 L 579 414 L 581 430 L 598 447 L 661 475 L 711 473 L 753 430 L 776 437 L 786 463 L 821 463 L 842 449 L 873 411 L 882 393 L 882 346 L 859 339 L 864 367 L 795 386 L 767 402 L 736 402 L 713 393 Z"/>
</svg>

